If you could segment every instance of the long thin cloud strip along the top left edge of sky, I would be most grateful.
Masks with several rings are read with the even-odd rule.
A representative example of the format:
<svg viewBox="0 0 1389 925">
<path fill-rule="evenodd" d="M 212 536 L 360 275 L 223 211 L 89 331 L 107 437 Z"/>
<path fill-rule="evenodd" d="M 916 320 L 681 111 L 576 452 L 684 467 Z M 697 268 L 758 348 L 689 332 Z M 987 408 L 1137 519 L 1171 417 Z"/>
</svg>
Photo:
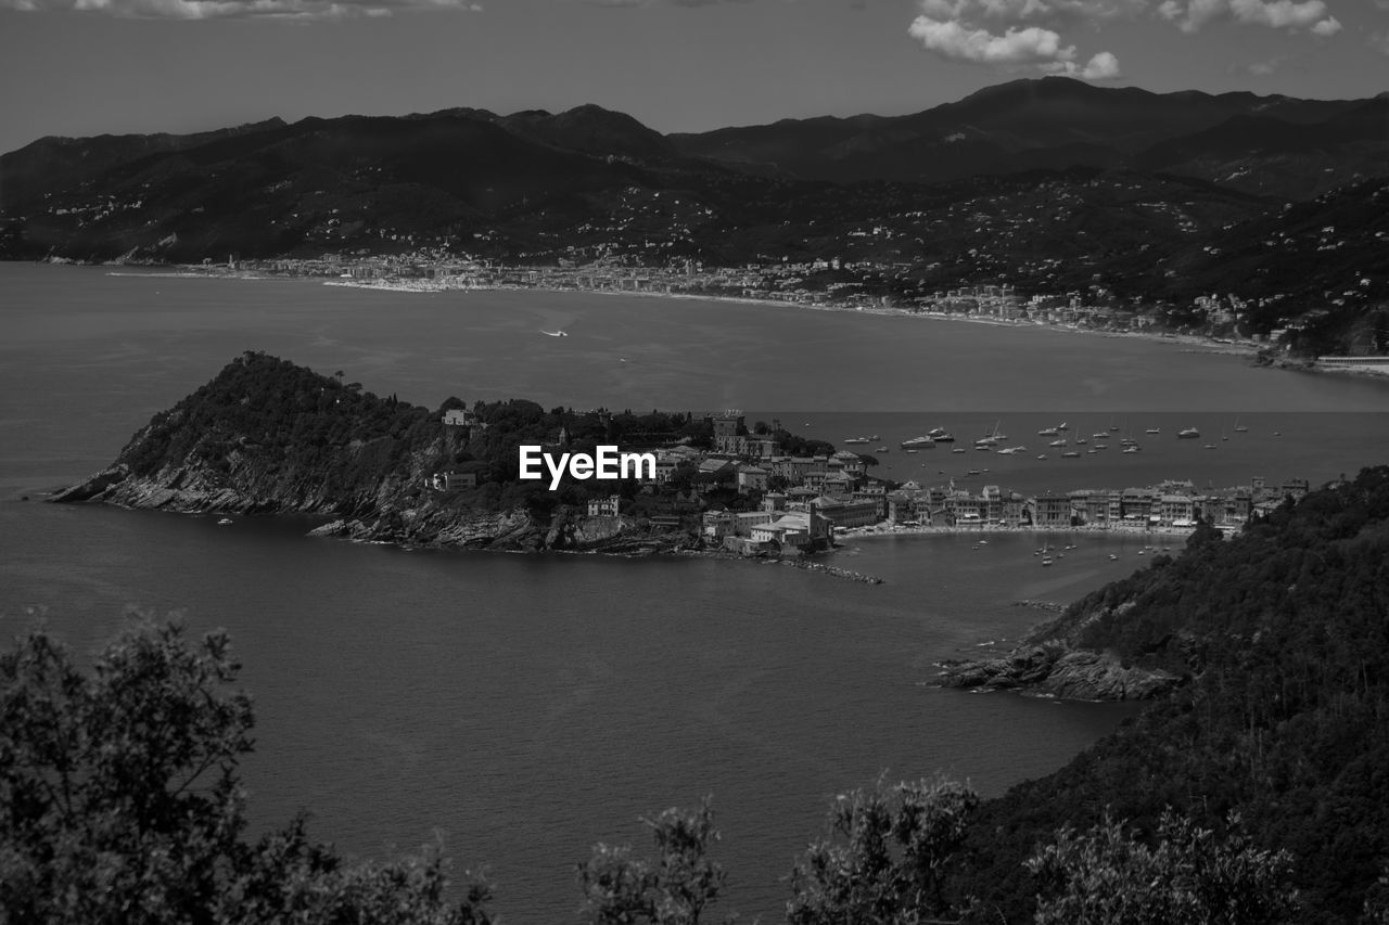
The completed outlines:
<svg viewBox="0 0 1389 925">
<path fill-rule="evenodd" d="M 124 19 L 350 19 L 410 10 L 481 12 L 476 0 L 0 0 L 0 10 L 75 10 Z"/>
</svg>

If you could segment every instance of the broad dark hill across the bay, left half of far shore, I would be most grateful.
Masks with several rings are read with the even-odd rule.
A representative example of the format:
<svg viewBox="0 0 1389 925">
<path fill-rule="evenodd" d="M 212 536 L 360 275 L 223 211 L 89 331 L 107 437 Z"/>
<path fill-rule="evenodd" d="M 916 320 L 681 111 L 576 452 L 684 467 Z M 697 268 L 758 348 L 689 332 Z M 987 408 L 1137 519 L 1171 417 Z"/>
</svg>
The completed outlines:
<svg viewBox="0 0 1389 925">
<path fill-rule="evenodd" d="M 564 128 L 592 140 L 574 119 Z M 53 200 L 44 183 L 10 183 L 7 214 L 24 221 L 7 250 L 196 262 L 474 244 L 508 210 L 601 203 L 632 186 L 678 186 L 681 176 L 467 115 L 311 118 L 128 160 Z"/>
</svg>

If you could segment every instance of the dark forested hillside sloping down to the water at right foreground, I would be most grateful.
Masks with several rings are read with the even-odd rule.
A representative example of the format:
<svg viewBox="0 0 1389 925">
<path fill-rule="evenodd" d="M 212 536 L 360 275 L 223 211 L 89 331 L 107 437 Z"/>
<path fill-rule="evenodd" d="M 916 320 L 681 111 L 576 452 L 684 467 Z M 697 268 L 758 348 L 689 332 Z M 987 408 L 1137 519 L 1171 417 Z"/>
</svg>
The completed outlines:
<svg viewBox="0 0 1389 925">
<path fill-rule="evenodd" d="M 1021 861 L 1108 808 L 1238 811 L 1296 857 L 1307 922 L 1354 922 L 1389 860 L 1389 467 L 1078 601 L 1042 635 L 1189 678 L 1064 769 L 986 804 L 956 888 L 1026 921 Z M 989 912 L 981 921 L 999 921 Z"/>
</svg>

